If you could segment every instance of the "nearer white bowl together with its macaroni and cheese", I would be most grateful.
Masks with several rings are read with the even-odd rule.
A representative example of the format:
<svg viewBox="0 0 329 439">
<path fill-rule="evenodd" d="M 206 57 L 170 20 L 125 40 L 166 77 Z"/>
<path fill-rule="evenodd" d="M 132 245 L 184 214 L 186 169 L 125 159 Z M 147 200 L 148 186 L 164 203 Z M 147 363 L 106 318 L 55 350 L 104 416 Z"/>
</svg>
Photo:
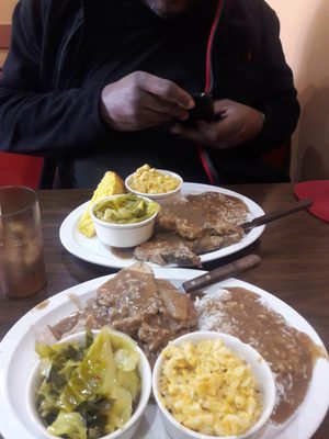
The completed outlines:
<svg viewBox="0 0 329 439">
<path fill-rule="evenodd" d="M 275 402 L 265 360 L 236 337 L 183 335 L 156 361 L 152 391 L 173 439 L 251 439 L 262 432 Z"/>
</svg>

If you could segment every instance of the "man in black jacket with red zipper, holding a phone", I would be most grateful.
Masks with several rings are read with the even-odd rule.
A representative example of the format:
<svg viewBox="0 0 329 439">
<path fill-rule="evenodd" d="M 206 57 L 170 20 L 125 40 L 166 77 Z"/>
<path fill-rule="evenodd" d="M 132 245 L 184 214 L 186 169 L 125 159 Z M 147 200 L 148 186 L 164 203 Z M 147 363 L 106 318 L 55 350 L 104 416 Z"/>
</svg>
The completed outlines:
<svg viewBox="0 0 329 439">
<path fill-rule="evenodd" d="M 0 148 L 56 159 L 59 187 L 144 162 L 185 181 L 287 178 L 262 162 L 299 115 L 279 30 L 263 0 L 21 0 Z M 216 121 L 190 127 L 195 92 Z"/>
</svg>

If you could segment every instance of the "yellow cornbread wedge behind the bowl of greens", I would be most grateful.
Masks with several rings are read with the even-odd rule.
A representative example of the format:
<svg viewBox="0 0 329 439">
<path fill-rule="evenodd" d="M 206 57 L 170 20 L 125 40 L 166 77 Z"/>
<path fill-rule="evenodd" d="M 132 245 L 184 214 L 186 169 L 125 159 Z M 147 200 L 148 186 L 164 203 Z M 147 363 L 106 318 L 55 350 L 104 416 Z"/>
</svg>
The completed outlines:
<svg viewBox="0 0 329 439">
<path fill-rule="evenodd" d="M 117 176 L 117 173 L 107 171 L 100 181 L 95 191 L 93 192 L 92 199 L 90 200 L 86 212 L 81 215 L 78 223 L 78 230 L 86 235 L 88 238 L 92 238 L 95 235 L 94 225 L 90 216 L 90 207 L 98 200 L 104 196 L 115 195 L 117 193 L 125 193 L 125 184 L 123 180 Z"/>
</svg>

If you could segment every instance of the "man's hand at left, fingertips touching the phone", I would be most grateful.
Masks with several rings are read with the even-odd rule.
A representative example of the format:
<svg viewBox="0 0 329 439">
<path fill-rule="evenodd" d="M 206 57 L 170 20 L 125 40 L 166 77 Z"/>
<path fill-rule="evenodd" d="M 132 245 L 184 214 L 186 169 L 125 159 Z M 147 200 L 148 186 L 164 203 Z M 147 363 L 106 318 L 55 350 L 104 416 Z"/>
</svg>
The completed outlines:
<svg viewBox="0 0 329 439">
<path fill-rule="evenodd" d="M 138 131 L 188 119 L 192 97 L 172 81 L 135 71 L 104 87 L 101 115 L 116 131 Z"/>
</svg>

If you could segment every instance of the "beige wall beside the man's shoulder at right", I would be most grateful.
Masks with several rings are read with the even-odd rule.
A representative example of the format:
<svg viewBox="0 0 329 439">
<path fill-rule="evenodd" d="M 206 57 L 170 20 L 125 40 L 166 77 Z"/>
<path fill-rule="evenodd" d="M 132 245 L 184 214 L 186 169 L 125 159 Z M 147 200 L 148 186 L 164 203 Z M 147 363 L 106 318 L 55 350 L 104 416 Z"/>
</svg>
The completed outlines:
<svg viewBox="0 0 329 439">
<path fill-rule="evenodd" d="M 293 138 L 292 178 L 329 178 L 329 1 L 268 0 L 294 70 L 302 116 Z"/>
</svg>

